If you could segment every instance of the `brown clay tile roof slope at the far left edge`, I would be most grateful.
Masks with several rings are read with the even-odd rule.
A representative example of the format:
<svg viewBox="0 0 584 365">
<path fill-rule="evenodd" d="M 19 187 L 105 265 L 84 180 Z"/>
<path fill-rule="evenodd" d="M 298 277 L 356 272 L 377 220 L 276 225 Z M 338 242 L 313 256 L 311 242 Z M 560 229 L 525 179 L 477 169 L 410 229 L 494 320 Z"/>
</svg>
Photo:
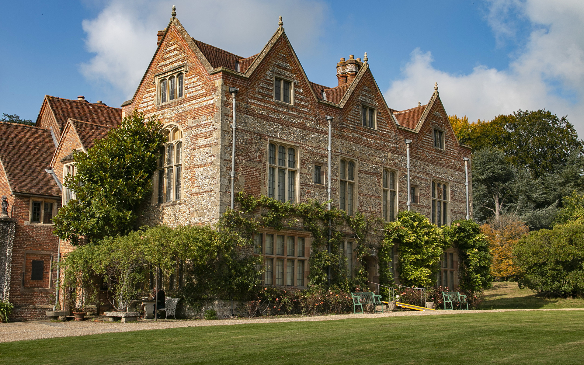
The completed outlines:
<svg viewBox="0 0 584 365">
<path fill-rule="evenodd" d="M 51 130 L 0 122 L 0 135 L 0 161 L 11 191 L 61 196 L 53 175 L 44 171 L 55 151 Z"/>
</svg>

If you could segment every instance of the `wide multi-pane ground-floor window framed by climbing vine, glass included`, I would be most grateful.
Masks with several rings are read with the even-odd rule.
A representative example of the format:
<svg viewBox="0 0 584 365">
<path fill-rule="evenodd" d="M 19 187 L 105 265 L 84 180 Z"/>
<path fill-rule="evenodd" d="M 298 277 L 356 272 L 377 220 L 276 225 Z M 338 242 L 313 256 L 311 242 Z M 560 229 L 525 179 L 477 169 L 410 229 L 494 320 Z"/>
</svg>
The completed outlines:
<svg viewBox="0 0 584 365">
<path fill-rule="evenodd" d="M 305 286 L 308 237 L 293 234 L 258 233 L 253 237 L 253 253 L 263 256 L 265 285 Z"/>
</svg>

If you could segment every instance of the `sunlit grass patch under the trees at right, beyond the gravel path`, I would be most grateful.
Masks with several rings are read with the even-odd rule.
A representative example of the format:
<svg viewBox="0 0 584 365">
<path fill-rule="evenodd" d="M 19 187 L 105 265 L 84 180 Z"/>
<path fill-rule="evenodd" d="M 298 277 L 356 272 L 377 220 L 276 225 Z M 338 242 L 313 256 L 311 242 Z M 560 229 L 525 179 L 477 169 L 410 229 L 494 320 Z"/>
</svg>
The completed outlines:
<svg viewBox="0 0 584 365">
<path fill-rule="evenodd" d="M 545 297 L 530 289 L 520 289 L 515 281 L 503 281 L 493 283 L 493 288 L 485 291 L 485 301 L 480 305 L 480 309 L 486 310 L 515 308 L 584 308 L 584 299 Z"/>
</svg>

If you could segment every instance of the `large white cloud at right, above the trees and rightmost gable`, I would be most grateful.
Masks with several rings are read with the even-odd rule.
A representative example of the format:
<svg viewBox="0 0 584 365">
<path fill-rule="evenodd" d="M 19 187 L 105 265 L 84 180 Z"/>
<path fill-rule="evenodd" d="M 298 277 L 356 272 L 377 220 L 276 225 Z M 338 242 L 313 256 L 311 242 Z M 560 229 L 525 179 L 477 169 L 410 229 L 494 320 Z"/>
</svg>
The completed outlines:
<svg viewBox="0 0 584 365">
<path fill-rule="evenodd" d="M 434 81 L 448 113 L 471 120 L 492 119 L 517 109 L 546 108 L 568 115 L 584 135 L 584 2 L 493 0 L 486 19 L 498 39 L 514 37 L 517 19 L 531 33 L 509 68 L 478 66 L 470 74 L 450 74 L 432 66 L 432 55 L 416 49 L 400 79 L 385 92 L 395 109 L 425 103 Z M 496 19 L 496 20 L 495 20 Z"/>
</svg>

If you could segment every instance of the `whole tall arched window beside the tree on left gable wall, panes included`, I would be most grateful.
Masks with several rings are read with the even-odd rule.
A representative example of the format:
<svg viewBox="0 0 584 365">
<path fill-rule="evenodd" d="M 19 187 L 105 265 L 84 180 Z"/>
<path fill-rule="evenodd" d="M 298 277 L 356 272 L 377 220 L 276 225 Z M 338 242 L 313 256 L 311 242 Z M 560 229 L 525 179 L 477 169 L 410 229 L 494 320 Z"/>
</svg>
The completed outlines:
<svg viewBox="0 0 584 365">
<path fill-rule="evenodd" d="M 157 203 L 180 200 L 182 196 L 183 134 L 178 126 L 164 130 L 166 142 L 158 151 L 158 169 L 155 182 Z"/>
</svg>

